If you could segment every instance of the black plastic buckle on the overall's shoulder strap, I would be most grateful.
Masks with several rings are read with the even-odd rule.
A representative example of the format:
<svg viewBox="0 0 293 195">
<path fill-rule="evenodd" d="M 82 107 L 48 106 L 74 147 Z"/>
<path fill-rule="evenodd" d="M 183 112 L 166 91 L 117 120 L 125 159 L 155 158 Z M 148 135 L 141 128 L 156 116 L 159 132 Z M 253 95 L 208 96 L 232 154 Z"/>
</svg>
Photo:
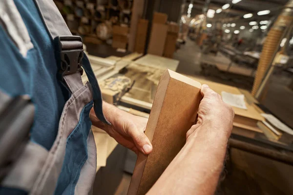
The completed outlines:
<svg viewBox="0 0 293 195">
<path fill-rule="evenodd" d="M 82 38 L 79 36 L 59 36 L 56 39 L 58 43 L 59 55 L 57 55 L 57 63 L 60 64 L 60 79 L 63 81 L 65 75 L 76 72 L 80 72 L 83 75 L 84 47 Z"/>
</svg>

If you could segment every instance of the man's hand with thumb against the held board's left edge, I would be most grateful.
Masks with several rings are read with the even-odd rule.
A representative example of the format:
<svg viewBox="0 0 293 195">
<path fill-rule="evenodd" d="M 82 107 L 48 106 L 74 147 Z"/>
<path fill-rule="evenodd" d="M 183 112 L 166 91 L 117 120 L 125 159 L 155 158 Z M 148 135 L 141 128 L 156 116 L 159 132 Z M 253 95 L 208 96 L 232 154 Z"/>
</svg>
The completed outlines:
<svg viewBox="0 0 293 195">
<path fill-rule="evenodd" d="M 102 123 L 91 109 L 90 119 L 94 126 L 103 129 L 118 143 L 136 154 L 139 151 L 143 154 L 151 153 L 152 145 L 144 133 L 147 118 L 131 115 L 106 102 L 103 102 L 103 112 L 112 125 Z"/>
</svg>

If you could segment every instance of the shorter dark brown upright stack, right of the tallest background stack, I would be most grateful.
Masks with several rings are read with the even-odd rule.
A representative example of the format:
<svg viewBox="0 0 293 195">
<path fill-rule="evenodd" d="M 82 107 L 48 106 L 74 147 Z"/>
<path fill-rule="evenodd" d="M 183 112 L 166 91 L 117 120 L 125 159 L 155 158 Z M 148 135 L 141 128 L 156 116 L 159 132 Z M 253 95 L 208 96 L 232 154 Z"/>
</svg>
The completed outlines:
<svg viewBox="0 0 293 195">
<path fill-rule="evenodd" d="M 168 24 L 167 38 L 164 48 L 164 57 L 173 58 L 173 54 L 176 50 L 176 42 L 178 39 L 179 26 L 177 23 Z"/>
</svg>

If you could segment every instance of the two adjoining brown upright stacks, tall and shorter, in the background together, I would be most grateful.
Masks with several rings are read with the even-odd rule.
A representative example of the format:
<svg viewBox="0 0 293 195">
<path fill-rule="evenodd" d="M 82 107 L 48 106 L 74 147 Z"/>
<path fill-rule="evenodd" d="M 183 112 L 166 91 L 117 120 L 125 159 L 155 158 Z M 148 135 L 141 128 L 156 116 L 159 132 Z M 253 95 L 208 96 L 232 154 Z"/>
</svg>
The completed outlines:
<svg viewBox="0 0 293 195">
<path fill-rule="evenodd" d="M 167 23 L 167 14 L 155 12 L 147 53 L 172 58 L 179 33 L 177 23 Z"/>
</svg>

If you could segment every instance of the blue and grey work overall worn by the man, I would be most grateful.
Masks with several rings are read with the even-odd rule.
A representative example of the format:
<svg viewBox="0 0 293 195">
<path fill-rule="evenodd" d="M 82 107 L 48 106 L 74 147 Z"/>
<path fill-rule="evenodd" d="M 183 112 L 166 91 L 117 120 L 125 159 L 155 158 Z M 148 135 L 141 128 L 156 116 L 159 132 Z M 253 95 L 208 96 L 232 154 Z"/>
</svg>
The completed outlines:
<svg viewBox="0 0 293 195">
<path fill-rule="evenodd" d="M 109 123 L 82 39 L 53 0 L 1 0 L 0 19 L 0 93 L 27 94 L 36 107 L 30 141 L 0 194 L 89 194 L 97 160 L 90 109 Z"/>
</svg>

